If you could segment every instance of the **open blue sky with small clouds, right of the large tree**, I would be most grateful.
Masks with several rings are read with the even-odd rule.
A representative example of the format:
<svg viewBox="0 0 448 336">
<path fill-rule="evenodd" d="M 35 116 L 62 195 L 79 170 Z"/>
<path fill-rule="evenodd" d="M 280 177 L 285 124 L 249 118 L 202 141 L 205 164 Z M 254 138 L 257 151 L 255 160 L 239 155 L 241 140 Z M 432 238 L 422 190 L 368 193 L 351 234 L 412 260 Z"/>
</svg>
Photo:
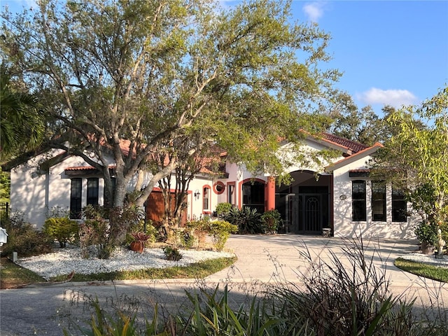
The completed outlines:
<svg viewBox="0 0 448 336">
<path fill-rule="evenodd" d="M 223 6 L 239 1 L 221 0 Z M 11 10 L 33 0 L 0 0 Z M 378 114 L 420 104 L 448 84 L 448 1 L 293 1 L 293 20 L 316 22 L 332 40 L 328 67 L 339 89 Z"/>
</svg>

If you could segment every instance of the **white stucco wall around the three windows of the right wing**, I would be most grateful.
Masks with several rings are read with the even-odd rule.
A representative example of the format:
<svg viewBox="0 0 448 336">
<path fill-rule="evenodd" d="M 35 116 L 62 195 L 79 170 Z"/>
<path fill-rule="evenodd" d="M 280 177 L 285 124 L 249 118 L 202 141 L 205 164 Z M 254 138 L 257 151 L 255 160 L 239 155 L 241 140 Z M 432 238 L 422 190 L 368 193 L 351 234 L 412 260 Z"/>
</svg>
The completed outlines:
<svg viewBox="0 0 448 336">
<path fill-rule="evenodd" d="M 367 177 L 350 177 L 352 169 L 366 168 L 365 162 L 370 157 L 360 158 L 350 164 L 333 171 L 333 211 L 335 237 L 362 237 L 384 239 L 414 238 L 414 219 L 407 218 L 407 222 L 392 221 L 392 193 L 391 187 L 386 187 L 386 221 L 372 221 L 372 184 Z M 352 221 L 351 184 L 354 180 L 366 181 L 366 221 Z M 408 205 L 409 208 L 409 205 Z"/>
</svg>

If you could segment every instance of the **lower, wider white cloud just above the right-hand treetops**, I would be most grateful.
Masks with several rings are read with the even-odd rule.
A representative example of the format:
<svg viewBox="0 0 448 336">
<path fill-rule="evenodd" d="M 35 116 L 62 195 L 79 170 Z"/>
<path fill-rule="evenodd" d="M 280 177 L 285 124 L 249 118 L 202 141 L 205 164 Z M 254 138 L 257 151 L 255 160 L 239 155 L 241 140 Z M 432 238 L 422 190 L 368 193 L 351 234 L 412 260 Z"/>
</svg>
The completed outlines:
<svg viewBox="0 0 448 336">
<path fill-rule="evenodd" d="M 358 94 L 357 98 L 365 104 L 390 105 L 395 108 L 412 105 L 418 101 L 417 97 L 408 90 L 381 90 L 377 87 Z"/>
</svg>

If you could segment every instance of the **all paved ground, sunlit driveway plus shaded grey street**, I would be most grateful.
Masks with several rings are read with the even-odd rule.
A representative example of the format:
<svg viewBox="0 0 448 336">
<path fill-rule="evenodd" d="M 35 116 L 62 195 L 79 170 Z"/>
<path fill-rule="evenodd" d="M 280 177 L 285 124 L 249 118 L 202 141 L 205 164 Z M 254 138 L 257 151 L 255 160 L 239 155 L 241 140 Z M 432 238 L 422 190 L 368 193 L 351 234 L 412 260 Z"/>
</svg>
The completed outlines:
<svg viewBox="0 0 448 336">
<path fill-rule="evenodd" d="M 448 286 L 420 279 L 393 266 L 393 260 L 416 249 L 415 241 L 365 241 L 364 255 L 372 260 L 381 274 L 386 274 L 389 289 L 395 295 L 416 297 L 416 306 L 448 307 Z M 342 239 L 297 235 L 230 237 L 226 246 L 238 256 L 233 267 L 203 280 L 116 281 L 115 283 L 63 283 L 0 291 L 0 335 L 83 335 L 77 325 L 86 325 L 92 316 L 89 302 L 99 300 L 102 307 L 120 305 L 132 310 L 139 302 L 139 316 L 151 319 L 158 302 L 159 314 L 188 311 L 185 290 L 230 288 L 230 302 L 238 307 L 251 300 L 253 294 L 277 283 L 300 283 L 300 274 L 312 274 L 305 260 L 336 258 L 344 267 L 353 267 L 346 251 L 356 251 Z M 384 273 L 383 273 L 384 272 Z"/>
</svg>

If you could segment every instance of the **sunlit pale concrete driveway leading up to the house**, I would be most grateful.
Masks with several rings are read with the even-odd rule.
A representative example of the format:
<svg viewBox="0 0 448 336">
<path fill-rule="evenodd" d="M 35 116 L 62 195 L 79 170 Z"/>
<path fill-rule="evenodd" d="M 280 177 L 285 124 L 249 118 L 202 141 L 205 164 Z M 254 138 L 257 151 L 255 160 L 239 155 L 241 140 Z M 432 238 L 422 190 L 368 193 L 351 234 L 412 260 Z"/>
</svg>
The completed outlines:
<svg viewBox="0 0 448 336">
<path fill-rule="evenodd" d="M 309 260 L 302 253 L 309 253 L 314 261 L 319 258 L 325 262 L 339 260 L 342 265 L 352 269 L 351 258 L 347 255 L 358 251 L 360 241 L 336 237 L 310 237 L 303 235 L 232 235 L 226 248 L 238 257 L 235 265 L 206 278 L 207 282 L 276 282 L 291 281 L 300 283 L 302 275 L 312 272 Z M 443 304 L 448 308 L 448 283 L 423 279 L 403 272 L 393 265 L 396 258 L 412 253 L 419 248 L 414 240 L 368 240 L 363 239 L 363 251 L 367 265 L 371 261 L 378 272 L 383 272 L 389 281 L 389 289 L 395 295 L 417 297 L 425 304 Z M 448 267 L 448 263 L 446 265 Z"/>
</svg>

